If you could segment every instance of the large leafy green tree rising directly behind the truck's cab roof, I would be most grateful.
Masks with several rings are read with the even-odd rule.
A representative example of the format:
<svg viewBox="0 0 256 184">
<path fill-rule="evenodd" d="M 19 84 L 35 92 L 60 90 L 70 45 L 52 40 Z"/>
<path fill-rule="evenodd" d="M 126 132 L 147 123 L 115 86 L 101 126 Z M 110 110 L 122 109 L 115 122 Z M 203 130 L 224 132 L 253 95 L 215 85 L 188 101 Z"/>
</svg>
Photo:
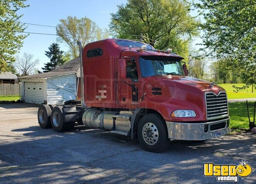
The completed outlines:
<svg viewBox="0 0 256 184">
<path fill-rule="evenodd" d="M 136 35 L 143 34 L 143 41 L 157 49 L 187 53 L 192 37 L 198 35 L 190 6 L 184 0 L 128 0 L 111 13 L 109 27 L 114 37 L 138 40 Z"/>
</svg>

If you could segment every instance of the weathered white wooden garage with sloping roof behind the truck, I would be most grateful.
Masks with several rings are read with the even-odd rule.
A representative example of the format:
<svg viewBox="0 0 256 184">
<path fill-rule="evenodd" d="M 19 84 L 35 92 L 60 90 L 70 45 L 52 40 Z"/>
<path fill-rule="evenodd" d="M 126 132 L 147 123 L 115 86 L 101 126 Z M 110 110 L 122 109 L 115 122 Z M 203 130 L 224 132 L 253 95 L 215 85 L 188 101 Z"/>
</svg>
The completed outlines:
<svg viewBox="0 0 256 184">
<path fill-rule="evenodd" d="M 64 104 L 75 100 L 79 87 L 80 60 L 75 58 L 51 72 L 20 77 L 20 98 L 27 103 Z"/>
</svg>

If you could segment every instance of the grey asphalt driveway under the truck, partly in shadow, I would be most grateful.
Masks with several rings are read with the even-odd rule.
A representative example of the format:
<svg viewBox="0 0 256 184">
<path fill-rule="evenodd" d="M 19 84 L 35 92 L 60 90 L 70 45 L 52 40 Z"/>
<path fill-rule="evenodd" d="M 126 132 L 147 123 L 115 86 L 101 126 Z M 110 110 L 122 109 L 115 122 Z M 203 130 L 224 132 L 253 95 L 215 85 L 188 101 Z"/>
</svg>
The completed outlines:
<svg viewBox="0 0 256 184">
<path fill-rule="evenodd" d="M 0 183 L 217 183 L 203 163 L 256 168 L 256 135 L 240 133 L 205 143 L 171 141 L 163 153 L 141 149 L 121 135 L 76 126 L 72 132 L 41 129 L 38 106 L 0 105 Z M 231 122 L 232 123 L 232 122 Z M 239 183 L 255 183 L 256 172 Z M 218 182 L 219 183 L 219 182 Z"/>
</svg>

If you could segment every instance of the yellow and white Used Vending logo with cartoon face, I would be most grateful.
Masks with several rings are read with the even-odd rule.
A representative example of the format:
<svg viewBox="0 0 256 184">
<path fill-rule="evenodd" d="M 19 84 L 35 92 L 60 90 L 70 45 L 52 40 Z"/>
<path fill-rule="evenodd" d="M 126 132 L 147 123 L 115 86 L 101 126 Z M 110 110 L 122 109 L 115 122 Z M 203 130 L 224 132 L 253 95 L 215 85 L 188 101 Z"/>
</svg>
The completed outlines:
<svg viewBox="0 0 256 184">
<path fill-rule="evenodd" d="M 241 179 L 249 178 L 253 171 L 246 161 L 241 161 L 239 165 L 204 163 L 204 176 L 215 176 L 217 181 L 238 182 L 239 176 Z"/>
</svg>

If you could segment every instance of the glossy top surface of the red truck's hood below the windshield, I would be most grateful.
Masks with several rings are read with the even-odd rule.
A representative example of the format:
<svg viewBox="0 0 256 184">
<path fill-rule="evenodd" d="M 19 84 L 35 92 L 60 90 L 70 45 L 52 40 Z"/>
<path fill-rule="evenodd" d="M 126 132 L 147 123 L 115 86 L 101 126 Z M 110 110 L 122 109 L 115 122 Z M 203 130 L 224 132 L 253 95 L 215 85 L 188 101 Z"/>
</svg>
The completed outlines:
<svg viewBox="0 0 256 184">
<path fill-rule="evenodd" d="M 154 84 L 161 84 L 164 86 L 186 89 L 198 93 L 205 93 L 211 91 L 215 94 L 218 94 L 220 91 L 225 91 L 221 86 L 215 84 L 211 85 L 212 83 L 208 81 L 180 75 L 153 76 L 146 83 L 153 86 Z"/>
</svg>

